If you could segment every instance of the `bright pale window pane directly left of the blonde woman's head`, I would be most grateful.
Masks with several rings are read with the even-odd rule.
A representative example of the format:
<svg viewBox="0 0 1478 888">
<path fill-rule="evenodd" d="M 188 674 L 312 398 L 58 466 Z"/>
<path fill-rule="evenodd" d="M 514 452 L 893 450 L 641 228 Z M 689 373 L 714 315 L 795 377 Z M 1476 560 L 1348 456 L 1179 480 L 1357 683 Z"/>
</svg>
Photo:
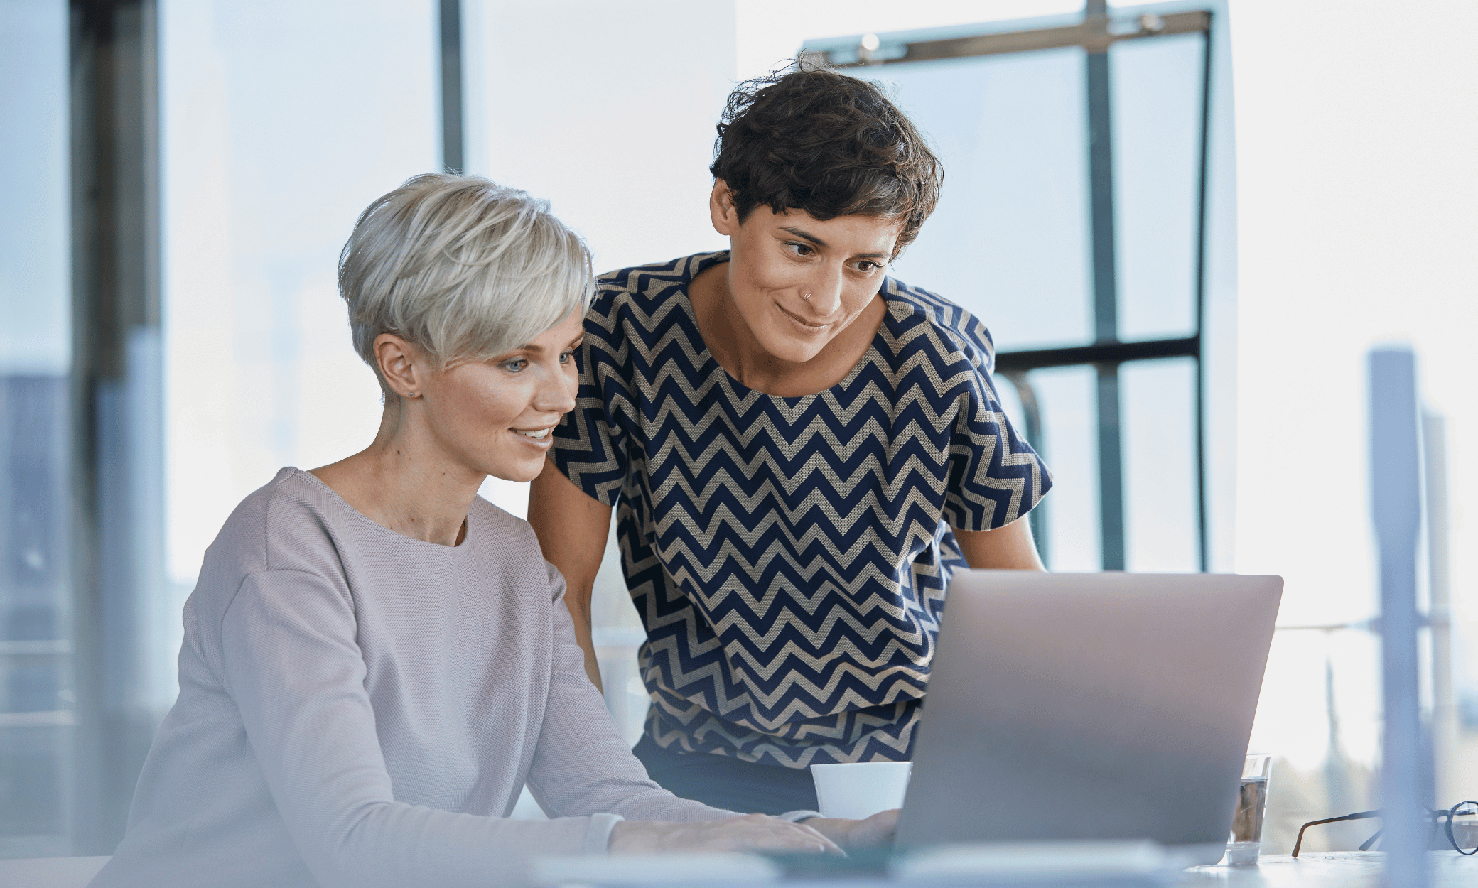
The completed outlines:
<svg viewBox="0 0 1478 888">
<path fill-rule="evenodd" d="M 435 21 L 430 0 L 161 3 L 167 559 L 183 584 L 279 467 L 374 437 L 380 390 L 336 264 L 371 199 L 439 165 Z"/>
</svg>

